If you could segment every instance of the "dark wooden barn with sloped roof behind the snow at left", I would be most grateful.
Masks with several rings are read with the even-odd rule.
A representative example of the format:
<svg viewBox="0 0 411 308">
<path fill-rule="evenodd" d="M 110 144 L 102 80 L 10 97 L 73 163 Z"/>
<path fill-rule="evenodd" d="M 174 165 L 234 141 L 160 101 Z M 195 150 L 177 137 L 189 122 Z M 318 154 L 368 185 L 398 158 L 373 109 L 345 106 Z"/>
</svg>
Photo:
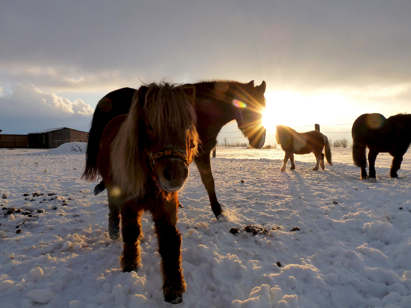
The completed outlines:
<svg viewBox="0 0 411 308">
<path fill-rule="evenodd" d="M 67 142 L 88 142 L 88 132 L 60 127 L 45 129 L 35 133 L 28 133 L 28 146 L 30 148 L 51 149 Z"/>
</svg>

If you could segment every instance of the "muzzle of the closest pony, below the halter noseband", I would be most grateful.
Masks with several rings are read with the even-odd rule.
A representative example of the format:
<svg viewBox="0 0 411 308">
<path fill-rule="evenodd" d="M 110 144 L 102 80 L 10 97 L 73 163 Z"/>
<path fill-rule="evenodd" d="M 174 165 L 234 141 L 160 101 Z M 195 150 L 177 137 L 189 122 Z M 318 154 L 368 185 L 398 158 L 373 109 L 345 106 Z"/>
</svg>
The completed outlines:
<svg viewBox="0 0 411 308">
<path fill-rule="evenodd" d="M 188 166 L 180 158 L 170 157 L 155 161 L 153 170 L 159 186 L 165 191 L 178 191 L 188 177 Z"/>
</svg>

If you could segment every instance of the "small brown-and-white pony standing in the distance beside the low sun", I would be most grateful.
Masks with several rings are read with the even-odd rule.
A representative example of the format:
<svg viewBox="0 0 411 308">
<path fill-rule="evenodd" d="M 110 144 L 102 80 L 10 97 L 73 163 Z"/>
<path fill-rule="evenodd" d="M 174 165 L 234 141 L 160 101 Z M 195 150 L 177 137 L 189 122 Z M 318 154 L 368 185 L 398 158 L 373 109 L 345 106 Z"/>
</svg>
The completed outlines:
<svg viewBox="0 0 411 308">
<path fill-rule="evenodd" d="M 319 167 L 324 170 L 326 166 L 324 165 L 323 149 L 325 149 L 328 164 L 332 166 L 330 143 L 328 142 L 327 136 L 319 131 L 297 133 L 291 127 L 277 125 L 275 127 L 275 138 L 277 143 L 280 144 L 281 148 L 285 151 L 281 171 L 285 171 L 288 159 L 291 161 L 290 170 L 296 169 L 294 154 L 308 154 L 311 152 L 314 153 L 316 159 L 316 164 L 312 170 L 318 170 Z"/>
</svg>

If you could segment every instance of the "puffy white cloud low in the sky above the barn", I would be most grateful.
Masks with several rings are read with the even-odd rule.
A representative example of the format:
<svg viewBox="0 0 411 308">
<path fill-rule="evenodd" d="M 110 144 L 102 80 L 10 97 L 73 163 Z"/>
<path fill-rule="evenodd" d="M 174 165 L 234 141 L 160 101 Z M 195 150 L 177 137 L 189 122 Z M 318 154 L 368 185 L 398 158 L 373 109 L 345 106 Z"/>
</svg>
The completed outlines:
<svg viewBox="0 0 411 308">
<path fill-rule="evenodd" d="M 43 92 L 31 83 L 21 83 L 12 87 L 12 93 L 0 97 L 3 112 L 9 115 L 92 115 L 94 109 L 81 99 L 74 102 L 55 93 Z"/>
</svg>

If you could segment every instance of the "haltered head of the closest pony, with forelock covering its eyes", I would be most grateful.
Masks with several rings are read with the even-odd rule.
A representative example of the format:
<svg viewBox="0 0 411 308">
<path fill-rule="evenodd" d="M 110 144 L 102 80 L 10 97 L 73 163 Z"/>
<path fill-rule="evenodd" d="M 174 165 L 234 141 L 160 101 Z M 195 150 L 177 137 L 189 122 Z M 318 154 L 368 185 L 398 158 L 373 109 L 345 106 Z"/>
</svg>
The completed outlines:
<svg viewBox="0 0 411 308">
<path fill-rule="evenodd" d="M 166 192 L 182 188 L 197 151 L 194 94 L 194 87 L 151 84 L 135 95 L 143 103 L 139 147 L 148 155 L 157 186 Z"/>
</svg>

